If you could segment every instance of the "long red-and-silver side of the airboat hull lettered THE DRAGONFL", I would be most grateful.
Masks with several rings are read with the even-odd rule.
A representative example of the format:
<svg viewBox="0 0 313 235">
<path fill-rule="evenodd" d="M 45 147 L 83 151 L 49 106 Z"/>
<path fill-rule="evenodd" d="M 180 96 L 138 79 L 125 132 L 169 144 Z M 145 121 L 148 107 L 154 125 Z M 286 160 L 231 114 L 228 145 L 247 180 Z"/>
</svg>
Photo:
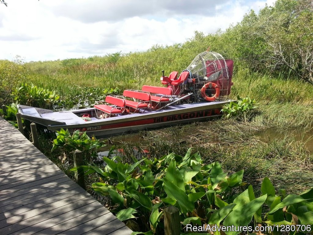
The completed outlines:
<svg viewBox="0 0 313 235">
<path fill-rule="evenodd" d="M 108 137 L 125 132 L 138 131 L 142 129 L 160 128 L 168 125 L 177 125 L 183 123 L 191 123 L 195 121 L 203 121 L 221 116 L 221 109 L 224 104 L 230 101 L 223 102 L 206 102 L 192 103 L 171 106 L 166 110 L 147 111 L 143 113 L 134 113 L 119 117 L 98 119 L 83 123 L 49 123 L 47 119 L 44 121 L 38 120 L 29 115 L 22 117 L 30 121 L 47 126 L 51 131 L 57 131 L 61 128 L 68 129 L 71 133 L 75 130 L 86 131 L 88 135 L 98 138 Z M 75 110 L 68 112 L 88 112 L 91 109 Z M 53 120 L 55 122 L 55 120 Z M 60 122 L 60 121 L 59 121 Z"/>
</svg>

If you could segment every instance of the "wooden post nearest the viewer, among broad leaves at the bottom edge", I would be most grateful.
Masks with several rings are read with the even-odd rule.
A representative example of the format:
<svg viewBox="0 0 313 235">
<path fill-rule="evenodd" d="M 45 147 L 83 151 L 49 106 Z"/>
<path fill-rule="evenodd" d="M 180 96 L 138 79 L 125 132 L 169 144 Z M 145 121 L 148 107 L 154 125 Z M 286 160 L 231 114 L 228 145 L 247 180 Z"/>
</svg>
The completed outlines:
<svg viewBox="0 0 313 235">
<path fill-rule="evenodd" d="M 179 219 L 179 209 L 169 206 L 164 209 L 164 231 L 165 235 L 180 235 L 181 224 Z"/>
</svg>

